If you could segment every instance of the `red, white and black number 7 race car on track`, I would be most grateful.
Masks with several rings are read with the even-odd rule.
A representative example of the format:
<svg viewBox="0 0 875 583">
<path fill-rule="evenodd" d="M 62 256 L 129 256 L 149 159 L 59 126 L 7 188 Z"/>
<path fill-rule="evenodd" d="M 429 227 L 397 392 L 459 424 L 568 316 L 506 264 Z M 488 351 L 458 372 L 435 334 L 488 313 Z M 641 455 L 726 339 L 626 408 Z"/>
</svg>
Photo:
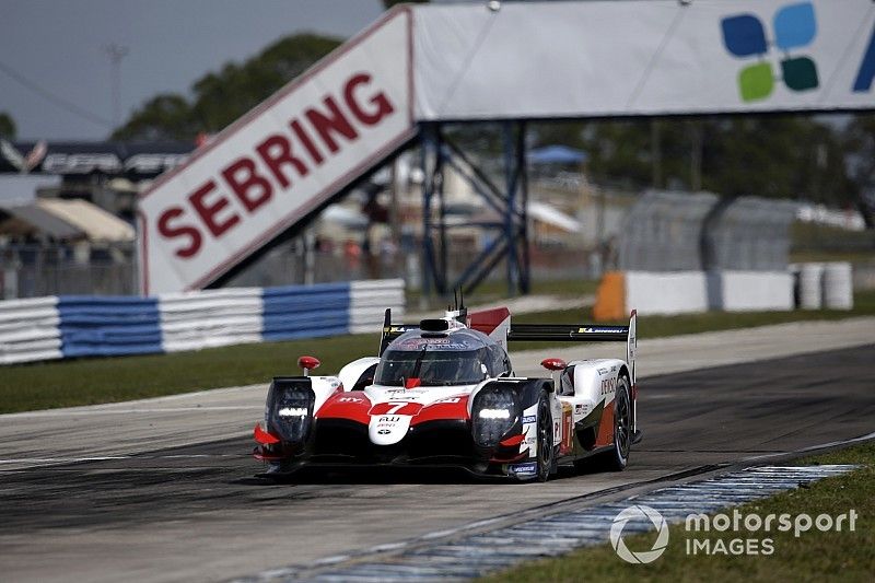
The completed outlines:
<svg viewBox="0 0 875 583">
<path fill-rule="evenodd" d="M 545 359 L 544 377 L 514 375 L 508 342 L 626 341 L 627 359 Z M 392 324 L 380 355 L 312 376 L 277 376 L 254 455 L 266 477 L 303 467 L 458 467 L 478 476 L 547 480 L 564 464 L 623 469 L 635 423 L 635 313 L 629 326 L 511 324 L 497 308 L 462 307 Z"/>
</svg>

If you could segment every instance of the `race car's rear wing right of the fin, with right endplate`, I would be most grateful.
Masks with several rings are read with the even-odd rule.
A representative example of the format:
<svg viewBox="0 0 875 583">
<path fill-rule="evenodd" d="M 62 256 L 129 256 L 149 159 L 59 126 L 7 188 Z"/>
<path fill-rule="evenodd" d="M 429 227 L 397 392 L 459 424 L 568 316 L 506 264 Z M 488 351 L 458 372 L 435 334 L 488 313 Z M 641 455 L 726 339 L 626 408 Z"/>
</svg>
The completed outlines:
<svg viewBox="0 0 875 583">
<path fill-rule="evenodd" d="M 605 326 L 600 324 L 511 324 L 508 341 L 546 342 L 626 342 L 626 362 L 629 375 L 635 384 L 635 357 L 638 337 L 635 322 L 638 313 L 633 310 L 628 326 Z"/>
</svg>

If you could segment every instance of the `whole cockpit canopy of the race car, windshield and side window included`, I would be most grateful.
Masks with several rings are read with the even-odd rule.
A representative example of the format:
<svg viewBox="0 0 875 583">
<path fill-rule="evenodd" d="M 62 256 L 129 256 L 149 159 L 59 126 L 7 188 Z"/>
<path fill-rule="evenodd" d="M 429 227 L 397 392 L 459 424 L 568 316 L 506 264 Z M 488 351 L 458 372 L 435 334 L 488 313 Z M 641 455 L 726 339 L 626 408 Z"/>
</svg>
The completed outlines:
<svg viewBox="0 0 875 583">
<path fill-rule="evenodd" d="M 418 378 L 418 386 L 474 385 L 510 372 L 506 352 L 481 333 L 423 335 L 410 330 L 383 352 L 374 383 L 404 386 L 410 378 Z"/>
</svg>

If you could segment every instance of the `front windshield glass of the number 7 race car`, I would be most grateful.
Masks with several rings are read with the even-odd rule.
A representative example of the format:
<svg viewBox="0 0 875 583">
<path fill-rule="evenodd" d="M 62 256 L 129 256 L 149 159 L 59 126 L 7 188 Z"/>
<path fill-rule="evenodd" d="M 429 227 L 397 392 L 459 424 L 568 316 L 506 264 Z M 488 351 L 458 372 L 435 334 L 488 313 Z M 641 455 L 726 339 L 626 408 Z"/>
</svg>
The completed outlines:
<svg viewBox="0 0 875 583">
<path fill-rule="evenodd" d="M 474 385 L 486 378 L 481 350 L 387 350 L 376 369 L 374 382 L 404 386 L 419 378 L 419 386 Z"/>
</svg>

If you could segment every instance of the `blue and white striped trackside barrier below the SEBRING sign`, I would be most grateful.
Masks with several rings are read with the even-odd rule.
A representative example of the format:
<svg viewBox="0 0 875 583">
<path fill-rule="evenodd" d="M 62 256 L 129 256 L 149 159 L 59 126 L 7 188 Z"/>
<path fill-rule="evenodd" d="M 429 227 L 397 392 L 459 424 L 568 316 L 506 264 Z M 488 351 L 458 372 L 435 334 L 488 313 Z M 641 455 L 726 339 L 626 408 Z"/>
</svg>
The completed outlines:
<svg viewBox="0 0 875 583">
<path fill-rule="evenodd" d="M 378 334 L 387 307 L 404 316 L 402 280 L 11 300 L 0 302 L 0 364 Z"/>
</svg>

